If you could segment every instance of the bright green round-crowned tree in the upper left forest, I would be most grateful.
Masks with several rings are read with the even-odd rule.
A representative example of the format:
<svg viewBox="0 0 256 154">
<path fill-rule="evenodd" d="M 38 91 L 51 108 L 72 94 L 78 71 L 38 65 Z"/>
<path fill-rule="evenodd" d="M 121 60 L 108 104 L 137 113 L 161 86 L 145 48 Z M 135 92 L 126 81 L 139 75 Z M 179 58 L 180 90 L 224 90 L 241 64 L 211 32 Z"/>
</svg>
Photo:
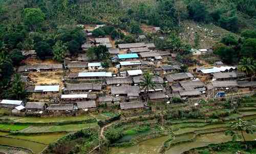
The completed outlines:
<svg viewBox="0 0 256 154">
<path fill-rule="evenodd" d="M 39 8 L 26 8 L 24 9 L 23 20 L 30 30 L 36 30 L 44 22 L 45 14 Z"/>
</svg>

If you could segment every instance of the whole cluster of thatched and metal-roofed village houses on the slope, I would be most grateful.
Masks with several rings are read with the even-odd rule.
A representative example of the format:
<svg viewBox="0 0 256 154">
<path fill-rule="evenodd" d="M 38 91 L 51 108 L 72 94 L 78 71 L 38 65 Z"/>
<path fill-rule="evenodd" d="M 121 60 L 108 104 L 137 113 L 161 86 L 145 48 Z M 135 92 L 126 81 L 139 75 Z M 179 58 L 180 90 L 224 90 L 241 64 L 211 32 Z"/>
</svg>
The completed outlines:
<svg viewBox="0 0 256 154">
<path fill-rule="evenodd" d="M 98 25 L 100 27 L 101 25 Z M 155 31 L 160 31 L 157 29 Z M 90 30 L 87 35 L 91 36 Z M 142 36 L 140 36 L 143 38 Z M 103 68 L 101 62 L 90 62 L 87 49 L 105 45 L 117 72 Z M 13 113 L 88 111 L 98 106 L 119 106 L 122 110 L 147 107 L 147 102 L 169 102 L 173 97 L 202 98 L 215 97 L 220 91 L 253 91 L 256 82 L 241 81 L 244 74 L 236 66 L 223 66 L 217 62 L 211 68 L 196 68 L 182 72 L 180 65 L 168 65 L 164 61 L 175 61 L 177 55 L 169 50 L 157 50 L 154 43 L 127 43 L 112 45 L 110 38 L 89 37 L 81 47 L 83 53 L 76 61 L 65 64 L 37 64 L 20 66 L 17 71 L 27 74 L 33 71 L 55 71 L 69 69 L 63 76 L 64 87 L 59 85 L 35 85 L 27 87 L 27 92 L 35 98 L 56 98 L 53 104 L 47 102 L 23 102 L 2 100 L 1 107 L 13 108 Z M 145 89 L 140 86 L 143 73 L 151 70 L 155 87 Z M 207 81 L 200 80 L 204 77 Z"/>
</svg>

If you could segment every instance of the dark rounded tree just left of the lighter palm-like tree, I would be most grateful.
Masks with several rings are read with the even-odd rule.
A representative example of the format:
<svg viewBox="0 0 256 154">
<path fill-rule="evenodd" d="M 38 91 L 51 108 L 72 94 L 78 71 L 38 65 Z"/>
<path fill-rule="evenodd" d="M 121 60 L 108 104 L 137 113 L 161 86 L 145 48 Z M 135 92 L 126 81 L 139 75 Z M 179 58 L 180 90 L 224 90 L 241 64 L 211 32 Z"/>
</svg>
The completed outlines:
<svg viewBox="0 0 256 154">
<path fill-rule="evenodd" d="M 50 45 L 44 41 L 40 41 L 35 44 L 35 52 L 40 59 L 52 56 L 52 49 Z"/>
</svg>

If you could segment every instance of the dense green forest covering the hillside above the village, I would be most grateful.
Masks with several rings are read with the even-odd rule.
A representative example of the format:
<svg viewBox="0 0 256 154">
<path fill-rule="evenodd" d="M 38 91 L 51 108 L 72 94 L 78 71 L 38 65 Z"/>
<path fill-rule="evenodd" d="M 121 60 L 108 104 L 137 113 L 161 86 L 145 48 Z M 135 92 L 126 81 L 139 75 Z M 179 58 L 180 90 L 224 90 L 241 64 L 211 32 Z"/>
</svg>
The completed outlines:
<svg viewBox="0 0 256 154">
<path fill-rule="evenodd" d="M 106 24 L 95 36 L 111 35 L 120 42 L 135 42 L 134 35 L 142 33 L 140 25 L 161 27 L 168 36 L 154 40 L 158 48 L 176 52 L 191 47 L 178 37 L 183 20 L 212 23 L 241 38 L 226 36 L 214 46 L 215 54 L 229 64 L 254 65 L 256 51 L 256 0 L 6 0 L 0 1 L 0 91 L 2 97 L 24 98 L 24 84 L 15 67 L 22 65 L 22 50 L 35 49 L 40 59 L 52 57 L 63 61 L 81 51 L 86 41 L 77 24 Z M 129 32 L 126 35 L 122 31 Z M 171 33 L 168 33 L 171 32 Z M 92 49 L 91 53 L 104 49 Z M 90 53 L 90 52 L 89 52 Z M 92 56 L 93 57 L 93 56 Z M 96 55 L 98 59 L 102 57 Z M 105 56 L 104 56 L 105 57 Z M 186 58 L 184 58 L 186 59 Z M 245 62 L 247 61 L 247 62 Z M 243 62 L 243 61 L 242 61 Z"/>
</svg>

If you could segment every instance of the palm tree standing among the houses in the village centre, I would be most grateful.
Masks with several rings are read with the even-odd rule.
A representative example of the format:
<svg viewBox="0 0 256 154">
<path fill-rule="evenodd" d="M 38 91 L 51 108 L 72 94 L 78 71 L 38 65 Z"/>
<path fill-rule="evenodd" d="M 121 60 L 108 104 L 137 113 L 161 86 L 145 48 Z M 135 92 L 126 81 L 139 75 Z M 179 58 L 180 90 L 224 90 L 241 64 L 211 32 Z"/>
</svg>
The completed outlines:
<svg viewBox="0 0 256 154">
<path fill-rule="evenodd" d="M 147 94 L 151 89 L 155 89 L 156 87 L 156 83 L 153 82 L 152 79 L 153 76 L 150 73 L 146 72 L 143 74 L 143 79 L 140 85 L 143 88 L 145 94 Z"/>
</svg>

